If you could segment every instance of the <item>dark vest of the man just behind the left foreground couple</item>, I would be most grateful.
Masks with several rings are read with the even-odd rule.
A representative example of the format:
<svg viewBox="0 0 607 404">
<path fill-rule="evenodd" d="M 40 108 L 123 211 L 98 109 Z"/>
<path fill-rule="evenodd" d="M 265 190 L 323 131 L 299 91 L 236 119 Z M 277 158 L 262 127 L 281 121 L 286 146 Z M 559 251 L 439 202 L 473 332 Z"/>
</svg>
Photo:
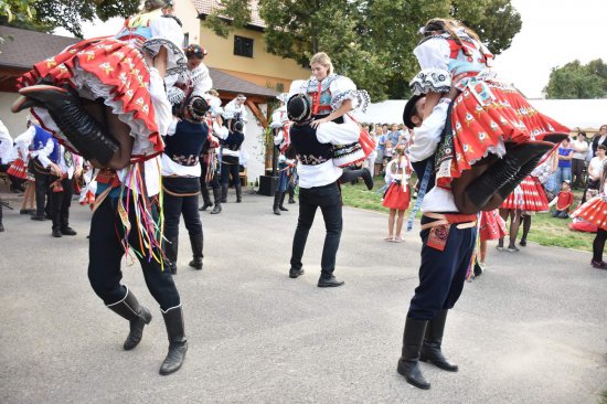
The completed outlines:
<svg viewBox="0 0 607 404">
<path fill-rule="evenodd" d="M 181 120 L 177 124 L 175 134 L 164 138 L 164 155 L 181 166 L 195 166 L 206 142 L 209 127 L 206 124 L 193 124 Z"/>
</svg>

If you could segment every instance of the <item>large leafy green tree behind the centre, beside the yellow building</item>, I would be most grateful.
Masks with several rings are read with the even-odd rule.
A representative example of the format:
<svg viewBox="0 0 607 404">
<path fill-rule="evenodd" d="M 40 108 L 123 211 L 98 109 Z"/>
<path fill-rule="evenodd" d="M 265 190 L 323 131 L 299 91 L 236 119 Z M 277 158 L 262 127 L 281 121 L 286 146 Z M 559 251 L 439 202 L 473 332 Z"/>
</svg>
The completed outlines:
<svg viewBox="0 0 607 404">
<path fill-rule="evenodd" d="M 207 24 L 226 35 L 251 21 L 246 0 L 224 0 Z M 450 17 L 477 31 L 499 54 L 521 29 L 510 0 L 259 0 L 270 53 L 307 65 L 327 52 L 336 70 L 365 88 L 374 100 L 408 96 L 418 71 L 413 49 L 418 29 L 435 17 Z"/>
</svg>

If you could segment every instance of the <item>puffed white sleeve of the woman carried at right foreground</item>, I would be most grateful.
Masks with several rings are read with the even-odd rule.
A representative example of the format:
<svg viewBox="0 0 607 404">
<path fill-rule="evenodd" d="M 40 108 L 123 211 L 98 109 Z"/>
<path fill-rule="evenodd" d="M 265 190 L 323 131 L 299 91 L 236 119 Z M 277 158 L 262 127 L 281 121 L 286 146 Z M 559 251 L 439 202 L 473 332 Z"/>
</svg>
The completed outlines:
<svg viewBox="0 0 607 404">
<path fill-rule="evenodd" d="M 427 93 L 449 93 L 449 43 L 444 38 L 433 38 L 422 42 L 413 51 L 422 71 L 409 82 L 415 95 Z"/>
</svg>

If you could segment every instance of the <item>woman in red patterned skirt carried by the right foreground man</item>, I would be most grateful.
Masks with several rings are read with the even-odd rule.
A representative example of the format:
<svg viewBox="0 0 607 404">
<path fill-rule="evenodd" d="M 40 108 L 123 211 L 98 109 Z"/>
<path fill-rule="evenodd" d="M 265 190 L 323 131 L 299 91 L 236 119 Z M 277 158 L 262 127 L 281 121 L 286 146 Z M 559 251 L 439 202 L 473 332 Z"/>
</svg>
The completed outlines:
<svg viewBox="0 0 607 404">
<path fill-rule="evenodd" d="M 563 140 L 568 128 L 537 113 L 512 85 L 494 79 L 493 55 L 461 23 L 429 20 L 415 47 L 422 72 L 411 82 L 426 94 L 425 117 L 466 74 L 435 160 L 437 185 L 451 188 L 461 213 L 493 210 Z"/>
</svg>

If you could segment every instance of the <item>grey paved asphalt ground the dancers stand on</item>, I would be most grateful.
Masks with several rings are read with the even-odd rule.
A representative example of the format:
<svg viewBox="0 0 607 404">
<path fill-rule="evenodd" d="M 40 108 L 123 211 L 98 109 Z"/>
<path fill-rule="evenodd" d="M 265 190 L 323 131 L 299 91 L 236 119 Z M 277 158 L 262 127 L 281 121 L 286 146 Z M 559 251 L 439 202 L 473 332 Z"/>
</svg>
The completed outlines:
<svg viewBox="0 0 607 404">
<path fill-rule="evenodd" d="M 234 201 L 231 194 L 230 200 Z M 13 203 L 14 205 L 15 203 Z M 607 272 L 590 255 L 535 244 L 489 252 L 489 269 L 466 285 L 448 318 L 448 373 L 422 364 L 432 390 L 396 373 L 419 238 L 382 241 L 386 216 L 344 209 L 337 276 L 316 287 L 323 237 L 317 216 L 306 275 L 287 277 L 297 205 L 278 217 L 271 199 L 245 195 L 203 213 L 204 269 L 189 268 L 181 230 L 175 277 L 190 350 L 158 375 L 162 317 L 140 267 L 124 281 L 155 318 L 134 351 L 128 323 L 88 285 L 90 213 L 75 205 L 75 237 L 50 222 L 4 211 L 0 234 L 0 403 L 596 403 L 607 390 Z"/>
</svg>

